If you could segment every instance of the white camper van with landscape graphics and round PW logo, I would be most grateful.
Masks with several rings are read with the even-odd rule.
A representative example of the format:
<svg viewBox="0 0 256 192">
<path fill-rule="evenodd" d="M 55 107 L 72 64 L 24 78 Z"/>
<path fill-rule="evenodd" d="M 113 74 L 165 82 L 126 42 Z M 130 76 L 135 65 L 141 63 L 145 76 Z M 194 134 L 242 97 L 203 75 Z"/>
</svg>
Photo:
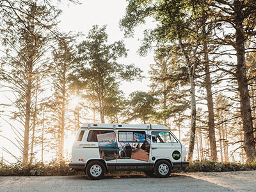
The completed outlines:
<svg viewBox="0 0 256 192">
<path fill-rule="evenodd" d="M 72 146 L 69 168 L 101 179 L 106 171 L 143 171 L 168 177 L 184 168 L 186 148 L 163 125 L 83 124 Z"/>
</svg>

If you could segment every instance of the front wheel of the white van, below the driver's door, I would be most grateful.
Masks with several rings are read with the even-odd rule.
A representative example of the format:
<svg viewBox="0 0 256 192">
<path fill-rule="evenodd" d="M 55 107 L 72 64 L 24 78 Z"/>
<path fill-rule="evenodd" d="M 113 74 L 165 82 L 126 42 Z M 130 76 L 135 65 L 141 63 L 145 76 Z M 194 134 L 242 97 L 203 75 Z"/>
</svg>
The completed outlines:
<svg viewBox="0 0 256 192">
<path fill-rule="evenodd" d="M 160 160 L 157 161 L 154 170 L 157 177 L 169 177 L 172 172 L 172 165 L 166 160 Z"/>
</svg>

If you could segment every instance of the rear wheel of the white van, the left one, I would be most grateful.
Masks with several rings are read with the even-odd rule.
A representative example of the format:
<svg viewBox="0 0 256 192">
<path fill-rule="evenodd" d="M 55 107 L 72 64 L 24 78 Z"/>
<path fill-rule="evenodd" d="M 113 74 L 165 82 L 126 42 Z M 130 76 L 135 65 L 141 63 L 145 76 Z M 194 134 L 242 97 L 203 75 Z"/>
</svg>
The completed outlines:
<svg viewBox="0 0 256 192">
<path fill-rule="evenodd" d="M 104 164 L 100 161 L 92 161 L 86 166 L 85 173 L 89 179 L 102 179 L 106 172 Z"/>
</svg>

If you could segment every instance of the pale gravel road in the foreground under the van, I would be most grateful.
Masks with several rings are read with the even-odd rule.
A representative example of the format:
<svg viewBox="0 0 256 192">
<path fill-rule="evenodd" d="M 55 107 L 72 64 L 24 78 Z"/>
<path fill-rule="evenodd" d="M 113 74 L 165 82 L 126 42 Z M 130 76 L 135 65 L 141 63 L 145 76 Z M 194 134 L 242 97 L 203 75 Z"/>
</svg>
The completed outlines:
<svg viewBox="0 0 256 192">
<path fill-rule="evenodd" d="M 0 177 L 0 191 L 256 191 L 256 171 L 173 173 L 166 179 L 145 175 L 88 180 L 86 176 Z"/>
</svg>

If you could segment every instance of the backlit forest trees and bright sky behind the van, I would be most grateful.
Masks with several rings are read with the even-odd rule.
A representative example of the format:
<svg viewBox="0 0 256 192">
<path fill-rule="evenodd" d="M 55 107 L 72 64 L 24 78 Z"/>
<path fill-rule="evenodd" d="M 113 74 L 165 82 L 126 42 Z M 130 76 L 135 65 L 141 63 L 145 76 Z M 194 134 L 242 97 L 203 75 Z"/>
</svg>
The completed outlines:
<svg viewBox="0 0 256 192">
<path fill-rule="evenodd" d="M 166 125 L 189 161 L 255 159 L 255 1 L 93 2 L 0 0 L 2 164 L 70 159 L 84 122 Z M 100 22 L 65 29 L 83 6 Z"/>
</svg>

